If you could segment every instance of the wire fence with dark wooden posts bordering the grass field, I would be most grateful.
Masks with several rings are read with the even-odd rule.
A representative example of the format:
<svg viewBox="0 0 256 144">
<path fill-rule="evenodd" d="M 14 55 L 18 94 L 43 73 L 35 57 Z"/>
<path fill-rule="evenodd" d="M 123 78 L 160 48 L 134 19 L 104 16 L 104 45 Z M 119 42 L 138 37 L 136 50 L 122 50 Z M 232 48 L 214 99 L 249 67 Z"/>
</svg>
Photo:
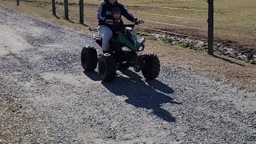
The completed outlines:
<svg viewBox="0 0 256 144">
<path fill-rule="evenodd" d="M 191 1 L 190 0 L 172 0 L 172 1 L 186 1 L 186 2 L 195 2 L 195 3 L 202 2 L 202 1 L 192 1 L 192 0 Z M 40 1 L 38 1 L 38 2 L 40 2 Z M 83 3 L 83 0 L 79 0 L 79 3 L 72 3 L 72 5 L 79 5 L 80 11 L 77 10 L 77 6 L 76 6 L 76 9 L 73 9 L 73 7 L 72 7 L 72 9 L 69 9 L 69 7 L 68 7 L 69 5 L 68 5 L 68 1 L 67 0 L 62 0 L 62 2 L 61 1 L 55 2 L 55 0 L 52 0 L 52 12 L 53 12 L 53 15 L 56 16 L 57 13 L 58 14 L 63 14 L 65 19 L 67 19 L 67 20 L 69 20 L 70 16 L 73 18 L 73 17 L 77 17 L 77 15 L 79 15 L 79 22 L 83 23 L 83 24 L 84 24 L 84 18 L 85 18 L 85 20 L 87 20 L 87 17 L 93 19 L 94 21 L 97 21 L 97 15 L 96 15 L 97 12 L 96 11 L 93 12 L 95 14 L 95 17 L 92 17 L 91 15 L 89 15 L 87 13 L 86 13 L 86 15 L 84 15 L 84 12 L 81 13 L 81 9 L 82 9 L 82 11 L 84 9 L 84 4 L 89 5 L 88 3 Z M 209 0 L 207 2 L 209 2 L 209 6 L 210 6 L 210 4 L 213 5 L 213 0 Z M 17 0 L 17 5 L 18 4 L 19 4 L 19 0 Z M 129 3 L 123 3 L 123 4 L 125 6 L 149 7 L 149 8 L 154 8 L 154 9 L 157 8 L 157 9 L 179 10 L 179 11 L 189 11 L 189 12 L 194 11 L 194 12 L 197 12 L 197 13 L 207 14 L 206 10 L 198 10 L 198 9 L 185 9 L 185 8 L 178 8 L 178 7 L 140 5 L 140 4 L 129 4 Z M 58 9 L 56 9 L 56 5 L 58 5 L 57 6 Z M 63 7 L 62 7 L 62 9 L 60 9 L 60 5 L 62 5 L 64 7 L 64 9 L 63 9 Z M 146 19 L 143 19 L 147 23 L 152 23 L 152 25 L 154 23 L 155 26 L 163 25 L 164 27 L 167 27 L 164 30 L 161 29 L 161 27 L 160 28 L 159 27 L 150 27 L 151 25 L 148 25 L 148 26 L 138 26 L 140 28 L 149 29 L 149 30 L 153 30 L 153 31 L 159 31 L 161 33 L 166 33 L 166 34 L 173 34 L 173 35 L 178 35 L 178 36 L 185 36 L 185 37 L 204 39 L 204 40 L 206 40 L 206 38 L 204 38 L 204 37 L 197 37 L 197 36 L 193 36 L 193 35 L 180 34 L 180 33 L 176 33 L 176 32 L 174 33 L 173 31 L 169 30 L 168 27 L 172 26 L 172 27 L 180 27 L 181 29 L 182 28 L 186 28 L 186 29 L 194 29 L 194 30 L 201 30 L 201 31 L 207 31 L 208 30 L 208 32 L 209 32 L 210 26 L 208 27 L 208 29 L 206 29 L 206 28 L 203 28 L 202 26 L 200 26 L 200 27 L 193 27 L 193 26 L 179 25 L 178 23 L 169 23 L 169 22 L 164 22 L 164 21 L 154 21 L 154 20 L 148 19 L 147 17 L 149 17 L 149 15 L 151 15 L 151 16 L 161 17 L 161 19 L 175 18 L 175 19 L 182 19 L 182 20 L 201 21 L 201 22 L 205 22 L 204 26 L 207 26 L 207 22 L 208 23 L 212 23 L 212 26 L 211 26 L 212 30 L 210 30 L 211 35 L 208 35 L 208 37 L 209 36 L 212 37 L 212 44 L 213 44 L 213 17 L 212 17 L 212 20 L 208 19 L 206 21 L 206 19 L 204 20 L 204 19 L 197 19 L 197 18 L 178 17 L 178 16 L 175 16 L 175 15 L 159 14 L 159 13 L 154 13 L 154 12 L 153 13 L 152 12 L 149 13 L 149 12 L 142 12 L 142 11 L 137 11 L 137 10 L 132 10 L 130 12 L 147 15 L 147 16 L 145 16 Z M 69 15 L 69 13 L 70 13 L 70 15 Z M 212 13 L 213 13 L 213 11 L 212 11 Z M 209 18 L 210 18 L 210 15 L 209 15 Z M 97 26 L 96 22 L 93 22 L 93 23 L 95 23 L 95 26 Z M 211 51 L 213 51 L 213 50 L 211 50 Z M 212 54 L 212 52 L 210 52 L 209 54 Z"/>
</svg>

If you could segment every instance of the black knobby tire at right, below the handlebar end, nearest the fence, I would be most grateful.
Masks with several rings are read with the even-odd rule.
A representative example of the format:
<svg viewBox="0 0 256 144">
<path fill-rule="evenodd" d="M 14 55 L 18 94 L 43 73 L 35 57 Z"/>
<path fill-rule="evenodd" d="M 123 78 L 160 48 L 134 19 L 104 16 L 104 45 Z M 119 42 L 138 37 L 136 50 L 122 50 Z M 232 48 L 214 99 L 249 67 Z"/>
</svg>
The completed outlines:
<svg viewBox="0 0 256 144">
<path fill-rule="evenodd" d="M 146 65 L 141 69 L 142 75 L 147 80 L 157 78 L 160 71 L 160 62 L 158 57 L 154 54 L 148 54 L 145 58 L 143 58 L 143 61 L 145 61 Z"/>
</svg>

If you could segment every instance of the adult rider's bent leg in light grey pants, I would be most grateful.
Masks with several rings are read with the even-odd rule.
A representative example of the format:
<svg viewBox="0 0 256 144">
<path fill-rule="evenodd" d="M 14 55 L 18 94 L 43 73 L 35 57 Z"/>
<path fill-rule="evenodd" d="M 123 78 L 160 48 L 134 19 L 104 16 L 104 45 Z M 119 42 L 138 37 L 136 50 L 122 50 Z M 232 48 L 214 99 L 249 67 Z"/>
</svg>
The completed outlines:
<svg viewBox="0 0 256 144">
<path fill-rule="evenodd" d="M 109 39 L 113 36 L 112 31 L 108 26 L 101 25 L 98 27 L 99 35 L 102 38 L 102 50 L 108 51 L 109 50 Z"/>
</svg>

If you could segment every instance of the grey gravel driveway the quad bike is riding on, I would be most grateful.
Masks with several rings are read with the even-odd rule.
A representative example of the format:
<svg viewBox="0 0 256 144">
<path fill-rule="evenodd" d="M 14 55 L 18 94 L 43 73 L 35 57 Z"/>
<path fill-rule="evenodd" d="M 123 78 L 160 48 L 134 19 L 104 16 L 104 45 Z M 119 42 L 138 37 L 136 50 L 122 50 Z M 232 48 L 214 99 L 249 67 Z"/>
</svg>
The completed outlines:
<svg viewBox="0 0 256 144">
<path fill-rule="evenodd" d="M 86 45 L 100 51 L 91 35 L 0 6 L 0 100 L 17 103 L 0 135 L 19 127 L 0 143 L 256 143 L 256 93 L 167 61 L 155 81 L 129 69 L 101 83 L 83 73 Z"/>
</svg>

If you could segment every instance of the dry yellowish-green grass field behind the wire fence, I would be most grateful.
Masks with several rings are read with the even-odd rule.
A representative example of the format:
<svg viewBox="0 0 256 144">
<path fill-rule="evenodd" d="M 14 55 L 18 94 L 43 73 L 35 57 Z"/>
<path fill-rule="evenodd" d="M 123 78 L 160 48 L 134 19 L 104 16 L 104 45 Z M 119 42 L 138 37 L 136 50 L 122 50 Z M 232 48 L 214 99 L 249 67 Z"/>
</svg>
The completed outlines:
<svg viewBox="0 0 256 144">
<path fill-rule="evenodd" d="M 31 0 L 28 0 L 31 1 Z M 36 0 L 40 2 L 51 3 L 50 0 Z M 57 0 L 62 2 L 62 0 Z M 69 3 L 78 3 L 78 0 L 69 0 Z M 97 12 L 98 5 L 101 0 L 84 0 L 86 6 L 84 11 L 87 18 L 88 25 L 97 26 Z M 207 10 L 208 4 L 205 0 L 198 0 L 196 2 L 191 1 L 173 1 L 173 0 L 119 0 L 124 3 L 129 11 L 136 15 L 138 18 L 148 20 L 145 27 L 162 29 L 171 31 L 173 33 L 186 34 L 197 37 L 207 37 L 207 30 L 190 29 L 172 25 L 165 25 L 161 23 L 153 23 L 149 21 L 170 23 L 173 25 L 181 25 L 186 27 L 195 27 L 207 29 Z M 145 7 L 140 5 L 149 6 L 164 6 L 164 7 L 176 7 L 180 9 L 195 9 L 204 11 L 190 11 L 190 10 L 177 10 L 177 9 L 164 9 L 159 7 Z M 63 15 L 63 5 L 59 6 L 59 13 Z M 78 21 L 78 5 L 69 6 L 69 9 L 73 9 L 73 14 L 70 14 L 70 18 Z M 75 10 L 76 9 L 76 10 Z M 143 12 L 143 13 L 141 13 Z M 72 12 L 71 12 L 72 13 Z M 152 14 L 146 14 L 152 13 Z M 255 0 L 214 0 L 214 37 L 215 39 L 221 39 L 223 41 L 237 42 L 242 46 L 255 47 L 256 43 L 256 1 Z M 153 15 L 153 14 L 162 14 Z M 166 17 L 163 15 L 169 15 L 173 17 Z M 94 20 L 93 18 L 94 17 Z M 182 19 L 193 18 L 200 20 Z M 202 21 L 203 20 L 203 21 Z M 255 48 L 256 49 L 256 48 Z"/>
</svg>

